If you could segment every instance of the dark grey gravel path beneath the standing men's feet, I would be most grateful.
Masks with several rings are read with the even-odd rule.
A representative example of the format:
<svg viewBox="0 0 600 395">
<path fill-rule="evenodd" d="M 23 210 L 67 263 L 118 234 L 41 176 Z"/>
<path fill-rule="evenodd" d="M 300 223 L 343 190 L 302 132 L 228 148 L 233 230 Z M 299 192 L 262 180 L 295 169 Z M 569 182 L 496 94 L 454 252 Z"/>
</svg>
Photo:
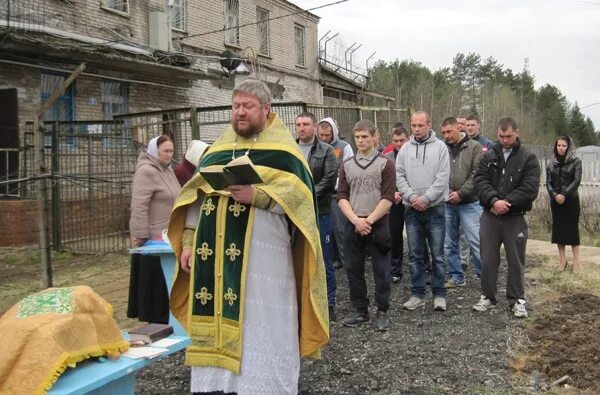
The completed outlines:
<svg viewBox="0 0 600 395">
<path fill-rule="evenodd" d="M 407 268 L 405 267 L 405 272 Z M 373 289 L 370 271 L 369 289 Z M 338 320 L 351 314 L 345 271 L 337 271 Z M 507 365 L 511 350 L 522 339 L 521 323 L 506 309 L 506 264 L 501 265 L 498 308 L 477 313 L 480 295 L 472 270 L 467 286 L 449 290 L 448 311 L 433 310 L 433 300 L 413 312 L 402 310 L 410 296 L 408 276 L 392 286 L 390 330 L 377 332 L 372 323 L 356 328 L 333 324 L 331 342 L 321 360 L 304 360 L 301 394 L 442 394 L 486 390 L 525 392 L 516 388 Z M 142 394 L 189 391 L 189 367 L 183 353 L 167 358 L 137 375 Z"/>
</svg>

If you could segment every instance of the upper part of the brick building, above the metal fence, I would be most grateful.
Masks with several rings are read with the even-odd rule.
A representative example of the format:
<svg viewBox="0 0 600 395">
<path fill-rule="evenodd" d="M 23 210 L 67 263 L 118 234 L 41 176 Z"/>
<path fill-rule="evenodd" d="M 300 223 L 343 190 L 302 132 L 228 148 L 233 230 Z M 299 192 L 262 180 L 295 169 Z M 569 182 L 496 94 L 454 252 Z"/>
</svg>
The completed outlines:
<svg viewBox="0 0 600 395">
<path fill-rule="evenodd" d="M 0 147 L 18 146 L 25 122 L 81 62 L 46 120 L 227 104 L 247 78 L 222 67 L 228 58 L 276 100 L 321 103 L 317 24 L 285 0 L 8 0 L 0 102 L 12 111 L 0 113 Z"/>
</svg>

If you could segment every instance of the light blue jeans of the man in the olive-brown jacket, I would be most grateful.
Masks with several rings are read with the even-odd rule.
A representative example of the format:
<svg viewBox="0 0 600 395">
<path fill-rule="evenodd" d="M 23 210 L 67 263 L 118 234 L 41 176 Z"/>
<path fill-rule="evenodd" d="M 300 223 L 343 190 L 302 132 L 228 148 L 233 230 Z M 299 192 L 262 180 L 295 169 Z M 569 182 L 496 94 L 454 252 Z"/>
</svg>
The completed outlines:
<svg viewBox="0 0 600 395">
<path fill-rule="evenodd" d="M 465 204 L 446 203 L 446 241 L 444 252 L 448 265 L 448 275 L 462 282 L 465 277 L 460 261 L 459 229 L 462 226 L 471 250 L 475 273 L 481 276 L 481 251 L 479 249 L 479 221 L 483 207 L 478 202 Z"/>
</svg>

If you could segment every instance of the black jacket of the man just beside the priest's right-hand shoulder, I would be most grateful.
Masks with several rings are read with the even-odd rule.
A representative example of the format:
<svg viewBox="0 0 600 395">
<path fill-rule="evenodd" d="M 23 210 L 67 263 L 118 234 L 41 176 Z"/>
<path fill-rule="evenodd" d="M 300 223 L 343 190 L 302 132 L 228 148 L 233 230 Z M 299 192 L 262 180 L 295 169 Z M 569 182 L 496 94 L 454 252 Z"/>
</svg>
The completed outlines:
<svg viewBox="0 0 600 395">
<path fill-rule="evenodd" d="M 310 148 L 308 165 L 315 182 L 315 194 L 319 215 L 331 212 L 331 195 L 335 189 L 337 180 L 337 159 L 333 147 L 315 136 L 315 142 Z"/>
</svg>

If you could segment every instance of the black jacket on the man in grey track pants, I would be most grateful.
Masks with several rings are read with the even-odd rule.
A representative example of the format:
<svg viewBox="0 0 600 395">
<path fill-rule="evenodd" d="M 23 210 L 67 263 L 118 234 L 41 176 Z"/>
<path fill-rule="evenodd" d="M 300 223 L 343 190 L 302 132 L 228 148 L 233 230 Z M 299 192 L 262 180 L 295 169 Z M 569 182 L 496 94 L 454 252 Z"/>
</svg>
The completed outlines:
<svg viewBox="0 0 600 395">
<path fill-rule="evenodd" d="M 506 199 L 510 210 L 505 215 L 523 215 L 531 210 L 540 188 L 540 164 L 534 153 L 517 142 L 508 159 L 500 143 L 488 150 L 475 171 L 475 190 L 480 204 L 489 210 L 497 200 Z"/>
</svg>

